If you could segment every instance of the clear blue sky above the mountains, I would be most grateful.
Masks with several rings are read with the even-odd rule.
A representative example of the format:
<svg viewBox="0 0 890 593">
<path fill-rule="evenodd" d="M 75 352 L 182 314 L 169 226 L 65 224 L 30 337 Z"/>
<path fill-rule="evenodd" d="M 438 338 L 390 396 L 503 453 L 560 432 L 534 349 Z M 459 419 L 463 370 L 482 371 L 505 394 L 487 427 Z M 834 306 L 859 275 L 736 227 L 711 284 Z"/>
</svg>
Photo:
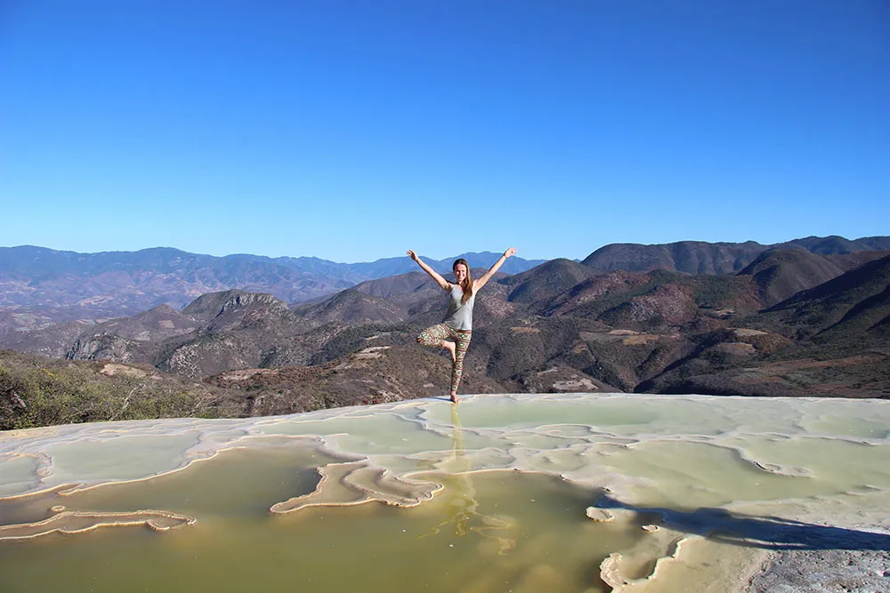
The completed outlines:
<svg viewBox="0 0 890 593">
<path fill-rule="evenodd" d="M 886 0 L 0 0 L 0 245 L 890 234 Z"/>
</svg>

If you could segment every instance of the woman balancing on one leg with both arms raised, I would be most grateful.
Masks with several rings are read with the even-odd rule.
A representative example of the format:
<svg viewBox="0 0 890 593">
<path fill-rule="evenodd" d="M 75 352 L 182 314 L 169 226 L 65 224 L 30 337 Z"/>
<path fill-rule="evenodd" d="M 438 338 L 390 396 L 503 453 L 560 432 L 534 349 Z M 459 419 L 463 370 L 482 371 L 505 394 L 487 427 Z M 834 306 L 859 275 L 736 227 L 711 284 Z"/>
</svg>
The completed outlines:
<svg viewBox="0 0 890 593">
<path fill-rule="evenodd" d="M 448 292 L 448 311 L 445 313 L 445 319 L 441 324 L 427 327 L 421 332 L 417 336 L 417 343 L 444 348 L 451 353 L 451 401 L 455 404 L 457 404 L 457 385 L 460 384 L 460 377 L 464 374 L 464 355 L 473 336 L 473 304 L 476 301 L 476 292 L 488 284 L 491 276 L 494 276 L 498 268 L 515 252 L 514 247 L 510 247 L 498 261 L 495 261 L 489 271 L 476 280 L 470 276 L 470 267 L 466 260 L 463 258 L 455 260 L 451 270 L 454 272 L 457 284 L 451 284 L 417 257 L 417 253 L 408 250 L 411 259 L 417 261 L 417 265 L 429 274 L 443 291 Z"/>
</svg>

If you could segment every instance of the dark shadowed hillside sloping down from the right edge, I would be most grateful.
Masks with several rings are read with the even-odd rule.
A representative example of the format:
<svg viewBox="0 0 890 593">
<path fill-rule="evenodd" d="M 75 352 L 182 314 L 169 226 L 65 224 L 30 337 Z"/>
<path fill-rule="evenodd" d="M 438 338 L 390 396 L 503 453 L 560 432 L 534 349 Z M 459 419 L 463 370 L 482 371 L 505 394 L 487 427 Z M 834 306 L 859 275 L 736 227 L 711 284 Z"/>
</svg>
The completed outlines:
<svg viewBox="0 0 890 593">
<path fill-rule="evenodd" d="M 715 328 L 635 389 L 890 397 L 890 255 Z"/>
</svg>

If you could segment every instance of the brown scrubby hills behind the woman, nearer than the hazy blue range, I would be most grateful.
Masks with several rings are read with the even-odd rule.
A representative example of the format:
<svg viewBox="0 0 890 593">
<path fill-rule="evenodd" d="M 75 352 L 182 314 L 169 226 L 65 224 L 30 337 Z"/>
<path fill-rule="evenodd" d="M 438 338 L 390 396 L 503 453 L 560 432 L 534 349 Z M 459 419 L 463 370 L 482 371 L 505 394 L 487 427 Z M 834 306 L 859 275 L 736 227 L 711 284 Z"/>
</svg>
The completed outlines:
<svg viewBox="0 0 890 593">
<path fill-rule="evenodd" d="M 462 390 L 890 397 L 890 249 L 871 249 L 885 245 L 620 245 L 498 273 Z M 24 327 L 34 314 L 0 311 L 0 346 L 198 381 L 227 413 L 289 413 L 441 392 L 448 360 L 414 338 L 442 310 L 409 271 L 313 301 L 231 289 L 100 323 Z"/>
</svg>

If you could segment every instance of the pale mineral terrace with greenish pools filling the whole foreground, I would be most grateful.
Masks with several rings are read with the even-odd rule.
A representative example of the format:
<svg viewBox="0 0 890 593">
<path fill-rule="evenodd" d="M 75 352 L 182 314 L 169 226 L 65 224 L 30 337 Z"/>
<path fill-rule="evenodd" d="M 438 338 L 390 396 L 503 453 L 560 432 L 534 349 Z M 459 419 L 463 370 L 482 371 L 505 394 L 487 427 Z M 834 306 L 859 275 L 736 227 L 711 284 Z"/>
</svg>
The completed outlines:
<svg viewBox="0 0 890 593">
<path fill-rule="evenodd" d="M 0 433 L 4 593 L 794 591 L 839 557 L 836 581 L 890 590 L 884 400 L 475 396 Z"/>
</svg>

